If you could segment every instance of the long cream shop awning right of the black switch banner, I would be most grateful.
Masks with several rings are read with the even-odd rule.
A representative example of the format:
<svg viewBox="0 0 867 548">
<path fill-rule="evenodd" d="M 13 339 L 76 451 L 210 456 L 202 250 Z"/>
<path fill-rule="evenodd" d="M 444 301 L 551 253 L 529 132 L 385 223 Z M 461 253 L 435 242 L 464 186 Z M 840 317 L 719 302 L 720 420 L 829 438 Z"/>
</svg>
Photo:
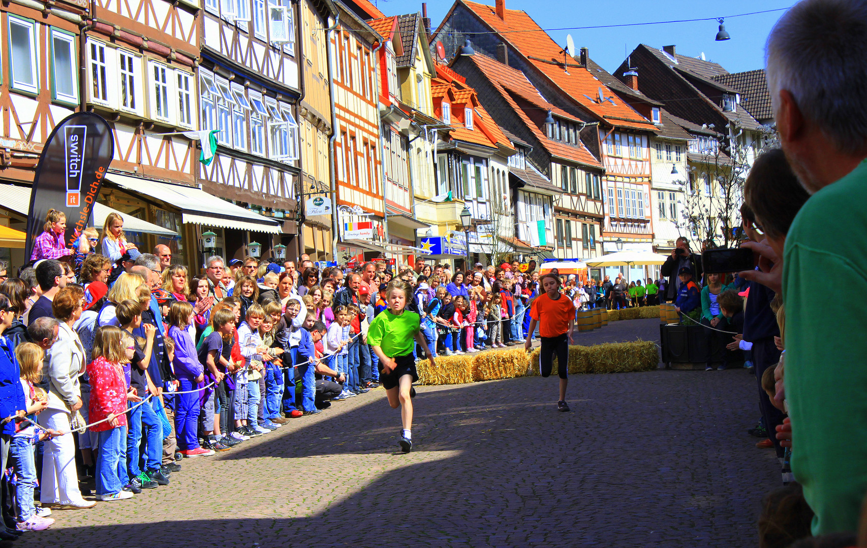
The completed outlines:
<svg viewBox="0 0 867 548">
<path fill-rule="evenodd" d="M 106 178 L 123 190 L 143 194 L 178 208 L 182 222 L 222 229 L 283 234 L 283 227 L 279 222 L 212 196 L 205 190 L 116 173 L 109 173 Z"/>
</svg>

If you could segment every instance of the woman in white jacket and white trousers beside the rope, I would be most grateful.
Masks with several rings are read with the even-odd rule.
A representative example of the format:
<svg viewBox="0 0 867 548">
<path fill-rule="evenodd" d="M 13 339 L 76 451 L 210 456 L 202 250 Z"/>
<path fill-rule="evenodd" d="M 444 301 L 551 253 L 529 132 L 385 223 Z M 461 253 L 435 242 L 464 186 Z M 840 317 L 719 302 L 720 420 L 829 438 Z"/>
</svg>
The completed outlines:
<svg viewBox="0 0 867 548">
<path fill-rule="evenodd" d="M 75 470 L 75 441 L 70 429 L 72 414 L 82 405 L 78 377 L 86 365 L 84 345 L 72 326 L 81 318 L 83 300 L 84 291 L 78 286 L 64 287 L 55 295 L 51 308 L 60 326 L 57 340 L 45 351 L 42 365 L 42 377 L 49 381 L 49 407 L 39 414 L 39 423 L 65 434 L 45 440 L 41 498 L 43 505 L 62 508 L 96 505 L 81 498 Z"/>
</svg>

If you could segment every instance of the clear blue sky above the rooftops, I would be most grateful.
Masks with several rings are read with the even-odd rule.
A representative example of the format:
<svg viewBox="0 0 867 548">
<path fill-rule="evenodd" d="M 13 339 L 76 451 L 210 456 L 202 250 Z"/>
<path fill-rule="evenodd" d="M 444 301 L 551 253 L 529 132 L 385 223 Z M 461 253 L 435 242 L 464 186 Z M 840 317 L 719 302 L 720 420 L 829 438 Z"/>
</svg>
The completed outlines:
<svg viewBox="0 0 867 548">
<path fill-rule="evenodd" d="M 371 0 L 388 16 L 421 10 L 420 0 Z M 494 0 L 476 0 L 493 4 Z M 543 29 L 585 27 L 621 23 L 647 23 L 673 19 L 730 16 L 759 10 L 787 8 L 793 0 L 728 0 L 725 3 L 687 0 L 619 0 L 618 2 L 539 2 L 506 0 L 510 10 L 525 10 Z M 444 0 L 427 2 L 427 15 L 433 28 L 453 5 Z M 616 7 L 615 7 L 616 6 Z M 708 61 L 720 63 L 729 72 L 762 68 L 765 65 L 765 40 L 783 11 L 727 19 L 726 29 L 732 36 L 727 42 L 715 42 L 718 23 L 672 23 L 621 29 L 587 29 L 552 31 L 551 37 L 565 45 L 571 34 L 576 48 L 590 48 L 590 57 L 603 68 L 613 71 L 623 62 L 624 49 L 632 51 L 639 43 L 662 48 L 677 46 L 677 53 L 697 57 L 704 52 Z"/>
</svg>

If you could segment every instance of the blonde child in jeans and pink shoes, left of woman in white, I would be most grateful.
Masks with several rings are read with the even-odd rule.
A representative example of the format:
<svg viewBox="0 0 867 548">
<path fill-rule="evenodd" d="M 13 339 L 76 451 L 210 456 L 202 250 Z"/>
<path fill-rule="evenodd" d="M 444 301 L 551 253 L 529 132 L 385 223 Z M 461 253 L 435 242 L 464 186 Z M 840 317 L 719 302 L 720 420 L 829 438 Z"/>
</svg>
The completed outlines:
<svg viewBox="0 0 867 548">
<path fill-rule="evenodd" d="M 33 448 L 36 439 L 42 440 L 51 435 L 53 430 L 36 429 L 36 415 L 49 406 L 48 397 L 42 389 L 36 389 L 36 384 L 42 380 L 42 348 L 33 343 L 23 343 L 15 349 L 18 365 L 21 368 L 21 387 L 24 390 L 24 406 L 27 419 L 32 422 L 22 422 L 20 429 L 10 441 L 11 465 L 15 468 L 17 481 L 15 484 L 16 500 L 18 500 L 19 531 L 42 531 L 54 523 L 54 519 L 41 518 L 36 515 L 33 504 L 33 491 L 36 489 L 36 461 Z"/>
</svg>

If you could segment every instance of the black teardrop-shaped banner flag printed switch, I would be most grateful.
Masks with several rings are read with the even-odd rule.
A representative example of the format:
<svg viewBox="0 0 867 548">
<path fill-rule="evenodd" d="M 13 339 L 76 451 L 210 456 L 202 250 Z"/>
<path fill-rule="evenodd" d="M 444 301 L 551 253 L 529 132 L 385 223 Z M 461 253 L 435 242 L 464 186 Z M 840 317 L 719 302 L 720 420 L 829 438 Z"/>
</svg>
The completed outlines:
<svg viewBox="0 0 867 548">
<path fill-rule="evenodd" d="M 65 242 L 72 245 L 88 228 L 108 164 L 114 158 L 114 131 L 96 113 L 73 113 L 55 126 L 36 164 L 27 216 L 29 257 L 49 210 L 66 214 Z"/>
</svg>

